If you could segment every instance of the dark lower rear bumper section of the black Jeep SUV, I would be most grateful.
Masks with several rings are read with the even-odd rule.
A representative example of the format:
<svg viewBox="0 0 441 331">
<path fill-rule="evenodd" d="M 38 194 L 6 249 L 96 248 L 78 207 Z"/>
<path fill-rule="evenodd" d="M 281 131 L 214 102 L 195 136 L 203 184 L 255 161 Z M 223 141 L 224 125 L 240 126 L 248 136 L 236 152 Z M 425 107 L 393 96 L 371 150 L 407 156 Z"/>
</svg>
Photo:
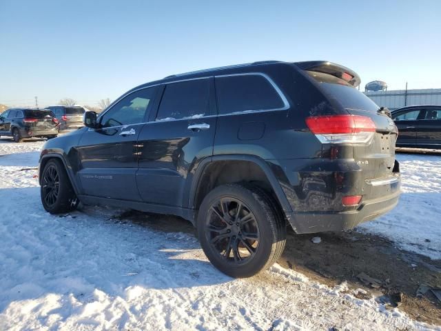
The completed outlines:
<svg viewBox="0 0 441 331">
<path fill-rule="evenodd" d="M 399 185 L 400 181 L 397 182 Z M 400 189 L 393 194 L 364 201 L 357 210 L 349 212 L 292 212 L 292 222 L 296 233 L 349 230 L 356 225 L 371 221 L 395 208 L 400 197 Z"/>
</svg>

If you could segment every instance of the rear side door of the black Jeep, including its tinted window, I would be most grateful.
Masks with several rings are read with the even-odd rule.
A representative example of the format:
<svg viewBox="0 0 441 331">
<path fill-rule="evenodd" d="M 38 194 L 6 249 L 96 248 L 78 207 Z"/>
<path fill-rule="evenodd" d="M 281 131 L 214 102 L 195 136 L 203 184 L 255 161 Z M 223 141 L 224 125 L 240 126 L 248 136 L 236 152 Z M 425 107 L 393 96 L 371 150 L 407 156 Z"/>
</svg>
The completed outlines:
<svg viewBox="0 0 441 331">
<path fill-rule="evenodd" d="M 157 116 L 139 134 L 136 183 L 143 201 L 187 207 L 194 172 L 213 153 L 214 99 L 212 77 L 163 86 Z"/>
</svg>

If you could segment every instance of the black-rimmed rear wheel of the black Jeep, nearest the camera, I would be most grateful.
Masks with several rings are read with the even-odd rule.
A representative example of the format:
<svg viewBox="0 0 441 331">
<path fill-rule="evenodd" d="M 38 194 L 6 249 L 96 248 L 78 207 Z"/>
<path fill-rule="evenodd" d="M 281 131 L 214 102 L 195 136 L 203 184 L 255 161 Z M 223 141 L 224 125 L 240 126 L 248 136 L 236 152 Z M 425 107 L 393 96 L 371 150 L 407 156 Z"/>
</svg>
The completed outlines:
<svg viewBox="0 0 441 331">
<path fill-rule="evenodd" d="M 251 185 L 226 184 L 209 192 L 196 225 L 209 261 L 231 277 L 266 270 L 285 248 L 285 219 L 271 198 Z"/>
</svg>

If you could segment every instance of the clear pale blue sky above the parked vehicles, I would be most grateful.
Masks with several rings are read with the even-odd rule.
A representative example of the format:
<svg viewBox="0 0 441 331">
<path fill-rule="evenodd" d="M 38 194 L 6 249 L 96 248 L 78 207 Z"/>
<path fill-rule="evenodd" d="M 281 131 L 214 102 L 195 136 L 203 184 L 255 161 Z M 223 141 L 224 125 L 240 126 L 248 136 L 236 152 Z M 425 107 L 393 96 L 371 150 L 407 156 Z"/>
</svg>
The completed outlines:
<svg viewBox="0 0 441 331">
<path fill-rule="evenodd" d="M 93 105 L 169 74 L 324 59 L 441 88 L 441 1 L 0 0 L 0 103 Z"/>
</svg>

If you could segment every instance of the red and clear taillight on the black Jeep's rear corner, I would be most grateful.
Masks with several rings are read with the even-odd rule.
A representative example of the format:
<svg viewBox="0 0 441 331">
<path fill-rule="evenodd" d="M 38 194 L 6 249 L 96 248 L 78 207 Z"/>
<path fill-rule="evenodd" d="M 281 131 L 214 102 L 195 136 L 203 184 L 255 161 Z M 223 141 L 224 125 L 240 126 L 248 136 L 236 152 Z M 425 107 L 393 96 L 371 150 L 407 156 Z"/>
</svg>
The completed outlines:
<svg viewBox="0 0 441 331">
<path fill-rule="evenodd" d="M 312 116 L 306 124 L 321 143 L 367 143 L 376 131 L 372 119 L 360 115 Z"/>
</svg>

